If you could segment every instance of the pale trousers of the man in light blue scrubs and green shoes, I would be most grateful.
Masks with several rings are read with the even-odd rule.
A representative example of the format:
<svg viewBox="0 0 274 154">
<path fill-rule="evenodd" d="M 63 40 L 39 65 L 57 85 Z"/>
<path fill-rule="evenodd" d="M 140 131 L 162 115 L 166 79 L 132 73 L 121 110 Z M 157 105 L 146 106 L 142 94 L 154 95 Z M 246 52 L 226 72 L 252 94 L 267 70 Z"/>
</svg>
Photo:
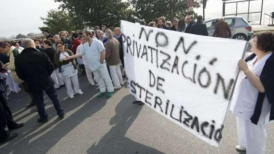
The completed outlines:
<svg viewBox="0 0 274 154">
<path fill-rule="evenodd" d="M 94 74 L 94 79 L 97 82 L 97 85 L 99 86 L 99 89 L 101 92 L 106 92 L 106 89 L 108 92 L 114 91 L 114 87 L 112 85 L 105 63 L 101 64 L 100 68 L 93 71 L 93 74 Z"/>
</svg>

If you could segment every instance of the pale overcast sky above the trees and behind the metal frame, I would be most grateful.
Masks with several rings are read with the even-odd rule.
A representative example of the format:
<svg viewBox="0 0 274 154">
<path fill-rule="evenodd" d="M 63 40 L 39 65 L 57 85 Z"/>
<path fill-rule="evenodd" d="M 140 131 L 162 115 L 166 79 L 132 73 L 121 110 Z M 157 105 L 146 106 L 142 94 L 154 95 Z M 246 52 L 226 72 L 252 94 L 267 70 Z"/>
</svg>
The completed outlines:
<svg viewBox="0 0 274 154">
<path fill-rule="evenodd" d="M 260 11 L 261 0 L 252 1 L 251 11 Z M 240 3 L 238 11 L 247 10 L 246 3 Z M 40 17 L 45 17 L 47 11 L 56 9 L 59 3 L 54 0 L 1 0 L 0 9 L 0 37 L 10 37 L 12 35 L 40 33 L 38 27 L 44 26 Z M 235 12 L 235 4 L 227 5 L 226 13 Z M 274 11 L 274 0 L 264 0 L 263 12 L 270 13 Z M 195 9 L 198 14 L 203 13 L 202 8 Z M 205 18 L 218 17 L 222 15 L 222 0 L 208 0 L 205 9 Z M 259 14 L 251 15 L 254 19 Z"/>
</svg>

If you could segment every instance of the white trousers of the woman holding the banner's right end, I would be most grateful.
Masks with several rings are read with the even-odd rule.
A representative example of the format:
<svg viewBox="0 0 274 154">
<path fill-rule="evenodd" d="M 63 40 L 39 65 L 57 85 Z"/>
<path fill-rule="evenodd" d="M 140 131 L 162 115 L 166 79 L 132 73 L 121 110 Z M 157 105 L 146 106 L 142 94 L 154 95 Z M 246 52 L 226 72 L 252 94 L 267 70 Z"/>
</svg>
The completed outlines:
<svg viewBox="0 0 274 154">
<path fill-rule="evenodd" d="M 267 133 L 266 126 L 253 124 L 250 120 L 236 117 L 238 142 L 246 148 L 247 154 L 265 154 Z"/>
</svg>

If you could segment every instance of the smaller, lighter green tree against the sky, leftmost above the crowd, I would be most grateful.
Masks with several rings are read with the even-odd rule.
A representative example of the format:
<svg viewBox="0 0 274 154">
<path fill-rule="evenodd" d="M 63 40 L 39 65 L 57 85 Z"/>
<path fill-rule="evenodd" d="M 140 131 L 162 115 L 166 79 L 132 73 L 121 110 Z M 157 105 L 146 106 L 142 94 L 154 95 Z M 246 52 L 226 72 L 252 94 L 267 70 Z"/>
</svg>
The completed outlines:
<svg viewBox="0 0 274 154">
<path fill-rule="evenodd" d="M 47 17 L 41 17 L 46 26 L 38 27 L 41 31 L 50 30 L 51 33 L 58 34 L 59 31 L 81 30 L 84 28 L 83 22 L 73 14 L 63 10 L 50 10 Z"/>
</svg>

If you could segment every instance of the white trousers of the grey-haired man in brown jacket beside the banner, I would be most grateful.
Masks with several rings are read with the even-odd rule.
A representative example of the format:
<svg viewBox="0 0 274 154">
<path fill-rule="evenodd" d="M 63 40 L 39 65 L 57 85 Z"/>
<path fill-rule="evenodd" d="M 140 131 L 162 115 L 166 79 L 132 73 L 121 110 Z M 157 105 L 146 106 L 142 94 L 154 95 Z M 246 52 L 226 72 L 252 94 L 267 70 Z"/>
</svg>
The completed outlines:
<svg viewBox="0 0 274 154">
<path fill-rule="evenodd" d="M 109 66 L 110 75 L 112 78 L 114 88 L 120 87 L 123 84 L 122 72 L 120 69 L 120 64 Z"/>
</svg>

